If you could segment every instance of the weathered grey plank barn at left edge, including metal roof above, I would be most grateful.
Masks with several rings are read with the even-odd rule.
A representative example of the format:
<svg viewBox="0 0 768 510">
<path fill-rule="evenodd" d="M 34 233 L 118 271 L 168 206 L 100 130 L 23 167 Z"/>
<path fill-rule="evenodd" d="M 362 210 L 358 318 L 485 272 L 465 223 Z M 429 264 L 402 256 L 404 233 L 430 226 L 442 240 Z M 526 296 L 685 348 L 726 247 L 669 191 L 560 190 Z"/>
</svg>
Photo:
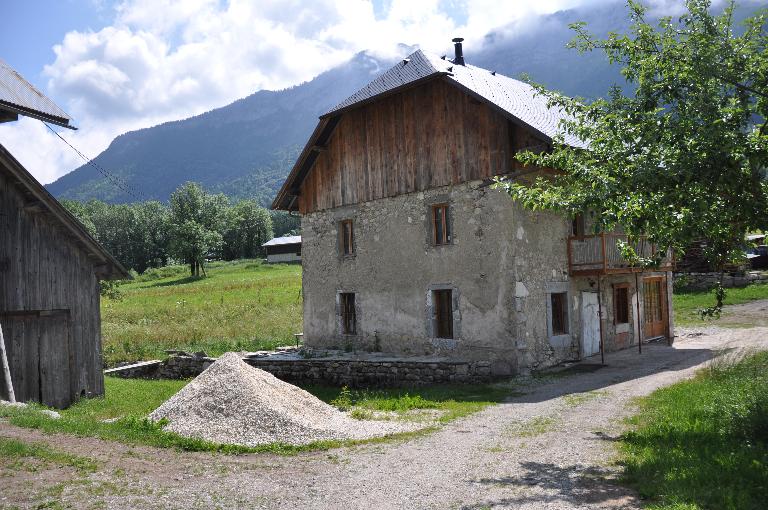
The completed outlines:
<svg viewBox="0 0 768 510">
<path fill-rule="evenodd" d="M 69 118 L 0 61 L 0 121 Z M 0 326 L 16 400 L 104 393 L 99 280 L 125 269 L 0 145 Z M 0 377 L 0 398 L 9 391 Z"/>
</svg>

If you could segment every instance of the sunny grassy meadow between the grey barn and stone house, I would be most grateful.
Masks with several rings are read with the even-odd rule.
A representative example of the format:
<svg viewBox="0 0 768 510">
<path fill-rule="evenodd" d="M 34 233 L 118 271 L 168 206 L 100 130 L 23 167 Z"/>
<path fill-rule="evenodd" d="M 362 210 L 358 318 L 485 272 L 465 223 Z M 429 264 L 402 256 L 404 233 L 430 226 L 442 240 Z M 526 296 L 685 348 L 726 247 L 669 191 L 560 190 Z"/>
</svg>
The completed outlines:
<svg viewBox="0 0 768 510">
<path fill-rule="evenodd" d="M 191 278 L 185 266 L 149 270 L 102 299 L 107 366 L 165 357 L 166 349 L 227 351 L 293 344 L 302 331 L 301 266 L 239 260 Z"/>
</svg>

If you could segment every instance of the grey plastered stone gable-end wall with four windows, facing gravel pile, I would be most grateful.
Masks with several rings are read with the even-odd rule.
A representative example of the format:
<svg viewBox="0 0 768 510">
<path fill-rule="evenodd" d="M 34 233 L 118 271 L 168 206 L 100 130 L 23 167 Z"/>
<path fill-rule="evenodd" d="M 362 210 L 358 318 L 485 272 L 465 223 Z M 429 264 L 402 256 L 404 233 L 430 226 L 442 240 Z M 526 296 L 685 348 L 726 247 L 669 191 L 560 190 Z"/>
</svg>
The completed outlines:
<svg viewBox="0 0 768 510">
<path fill-rule="evenodd" d="M 434 246 L 431 207 L 449 204 L 451 241 Z M 354 222 L 355 253 L 339 250 Z M 516 365 L 513 204 L 482 181 L 310 213 L 302 218 L 304 344 L 401 356 L 501 359 Z M 454 338 L 432 331 L 431 292 L 451 289 Z M 338 293 L 355 293 L 344 335 Z"/>
</svg>

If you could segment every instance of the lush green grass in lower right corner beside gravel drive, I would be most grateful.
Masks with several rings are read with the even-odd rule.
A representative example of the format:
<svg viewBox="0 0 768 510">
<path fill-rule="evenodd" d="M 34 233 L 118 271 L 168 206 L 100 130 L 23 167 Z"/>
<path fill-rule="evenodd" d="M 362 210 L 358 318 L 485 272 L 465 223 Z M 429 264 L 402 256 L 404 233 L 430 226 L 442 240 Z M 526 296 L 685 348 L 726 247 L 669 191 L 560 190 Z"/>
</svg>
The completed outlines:
<svg viewBox="0 0 768 510">
<path fill-rule="evenodd" d="M 648 508 L 766 508 L 768 353 L 716 362 L 640 407 L 620 449 Z"/>
</svg>

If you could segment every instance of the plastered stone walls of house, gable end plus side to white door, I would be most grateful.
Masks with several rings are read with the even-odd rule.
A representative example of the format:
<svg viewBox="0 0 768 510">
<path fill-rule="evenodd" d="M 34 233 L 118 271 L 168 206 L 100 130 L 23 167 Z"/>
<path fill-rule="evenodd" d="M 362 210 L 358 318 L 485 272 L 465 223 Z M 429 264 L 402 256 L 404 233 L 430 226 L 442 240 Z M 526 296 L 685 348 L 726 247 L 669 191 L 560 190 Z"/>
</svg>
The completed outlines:
<svg viewBox="0 0 768 510">
<path fill-rule="evenodd" d="M 433 246 L 430 212 L 450 204 L 451 244 Z M 339 225 L 354 222 L 355 253 Z M 562 216 L 531 213 L 483 181 L 307 214 L 302 221 L 305 344 L 311 348 L 493 360 L 516 373 L 579 357 L 579 294 Z M 432 291 L 450 288 L 454 338 L 436 338 Z M 569 294 L 566 335 L 551 334 L 549 293 Z M 339 298 L 355 293 L 357 330 Z"/>
</svg>

